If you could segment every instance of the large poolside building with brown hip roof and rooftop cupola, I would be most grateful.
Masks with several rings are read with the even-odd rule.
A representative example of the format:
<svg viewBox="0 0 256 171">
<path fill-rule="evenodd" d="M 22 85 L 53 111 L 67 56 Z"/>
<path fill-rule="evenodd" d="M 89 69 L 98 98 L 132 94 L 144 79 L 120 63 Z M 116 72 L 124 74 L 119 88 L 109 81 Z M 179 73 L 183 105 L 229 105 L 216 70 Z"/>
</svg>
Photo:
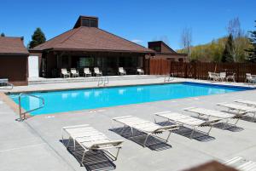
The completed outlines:
<svg viewBox="0 0 256 171">
<path fill-rule="evenodd" d="M 154 55 L 154 50 L 144 48 L 122 37 L 98 28 L 98 18 L 79 16 L 74 27 L 49 41 L 30 49 L 38 55 L 41 77 L 60 77 L 61 68 L 99 67 L 103 75 L 117 75 L 118 67 L 127 74 L 144 68 L 144 60 Z"/>
</svg>

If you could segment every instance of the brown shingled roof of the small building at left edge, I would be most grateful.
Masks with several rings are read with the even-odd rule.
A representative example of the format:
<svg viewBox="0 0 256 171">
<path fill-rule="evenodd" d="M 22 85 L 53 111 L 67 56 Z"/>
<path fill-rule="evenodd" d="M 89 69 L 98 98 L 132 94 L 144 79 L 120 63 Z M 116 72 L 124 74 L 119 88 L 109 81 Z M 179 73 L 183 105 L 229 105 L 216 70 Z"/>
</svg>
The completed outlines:
<svg viewBox="0 0 256 171">
<path fill-rule="evenodd" d="M 0 54 L 28 54 L 21 37 L 0 37 Z"/>
</svg>

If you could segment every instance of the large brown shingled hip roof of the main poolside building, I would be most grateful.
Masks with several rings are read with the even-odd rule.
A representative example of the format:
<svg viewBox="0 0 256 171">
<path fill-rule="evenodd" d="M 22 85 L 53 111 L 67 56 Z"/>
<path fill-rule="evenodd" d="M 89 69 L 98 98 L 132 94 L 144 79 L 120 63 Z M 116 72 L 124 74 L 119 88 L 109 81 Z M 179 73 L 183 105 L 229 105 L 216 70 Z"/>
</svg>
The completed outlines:
<svg viewBox="0 0 256 171">
<path fill-rule="evenodd" d="M 33 50 L 85 50 L 154 53 L 137 43 L 95 27 L 80 26 L 38 45 Z"/>
</svg>

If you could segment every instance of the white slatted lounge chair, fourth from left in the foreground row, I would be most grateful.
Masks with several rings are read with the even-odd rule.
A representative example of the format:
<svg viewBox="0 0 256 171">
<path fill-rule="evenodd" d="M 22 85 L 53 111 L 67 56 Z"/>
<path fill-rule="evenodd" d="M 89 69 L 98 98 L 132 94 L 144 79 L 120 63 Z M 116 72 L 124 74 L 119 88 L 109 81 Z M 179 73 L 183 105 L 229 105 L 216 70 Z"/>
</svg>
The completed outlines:
<svg viewBox="0 0 256 171">
<path fill-rule="evenodd" d="M 215 111 L 210 109 L 205 109 L 201 107 L 189 107 L 184 109 L 184 111 L 189 111 L 198 114 L 198 117 L 206 116 L 207 119 L 210 117 L 217 117 L 221 120 L 225 120 L 225 123 L 229 123 L 230 119 L 237 119 L 236 123 L 238 123 L 239 119 L 241 118 L 242 114 L 233 115 L 230 113 L 226 113 L 223 111 Z M 234 125 L 236 126 L 236 123 Z"/>
</svg>

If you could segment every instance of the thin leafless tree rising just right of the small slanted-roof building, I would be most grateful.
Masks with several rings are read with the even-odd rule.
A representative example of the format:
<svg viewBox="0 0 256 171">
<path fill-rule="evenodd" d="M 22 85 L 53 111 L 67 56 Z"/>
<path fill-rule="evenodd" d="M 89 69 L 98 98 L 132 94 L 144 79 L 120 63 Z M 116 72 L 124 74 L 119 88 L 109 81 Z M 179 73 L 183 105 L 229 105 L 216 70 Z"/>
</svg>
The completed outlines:
<svg viewBox="0 0 256 171">
<path fill-rule="evenodd" d="M 192 30 L 191 28 L 185 27 L 181 35 L 181 45 L 184 50 L 184 53 L 188 55 L 191 53 L 190 52 L 191 43 L 192 43 Z"/>
</svg>

